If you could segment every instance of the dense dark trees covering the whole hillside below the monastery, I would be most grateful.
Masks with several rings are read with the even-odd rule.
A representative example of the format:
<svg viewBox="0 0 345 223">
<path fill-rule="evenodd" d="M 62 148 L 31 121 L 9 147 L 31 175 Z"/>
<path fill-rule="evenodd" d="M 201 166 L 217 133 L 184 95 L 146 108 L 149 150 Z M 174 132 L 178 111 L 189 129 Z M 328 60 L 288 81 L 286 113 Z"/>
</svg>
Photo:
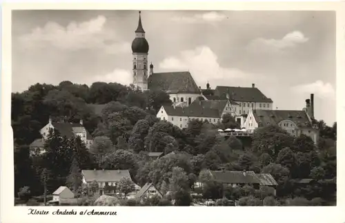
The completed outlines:
<svg viewBox="0 0 345 223">
<path fill-rule="evenodd" d="M 105 104 L 101 115 L 90 109 L 90 103 Z M 19 189 L 20 196 L 28 191 L 41 195 L 43 187 L 52 192 L 62 184 L 78 191 L 81 169 L 96 168 L 128 169 L 136 184 L 152 182 L 179 206 L 192 202 L 190 194 L 197 180 L 205 182 L 201 191 L 204 198 L 223 199 L 217 202 L 219 205 L 230 204 L 224 199 L 254 205 L 258 204 L 255 199 L 275 204 L 277 198 L 333 198 L 335 189 L 324 187 L 324 180 L 336 177 L 336 123 L 328 127 L 322 120 L 318 122 L 317 145 L 308 136 L 294 137 L 270 125 L 256 129 L 251 147 L 244 147 L 241 140 L 224 138 L 217 132 L 219 127 L 238 127 L 229 114 L 217 125 L 191 120 L 188 127 L 179 129 L 155 116 L 161 105 L 170 103 L 165 92 L 141 92 L 117 83 L 94 83 L 88 87 L 63 81 L 57 86 L 36 84 L 26 92 L 12 94 L 15 195 L 19 195 Z M 48 118 L 61 116 L 67 117 L 68 122 L 82 118 L 94 138 L 92 147 L 86 149 L 80 138 L 66 138 L 58 131 L 50 131 L 44 146 L 46 153 L 29 156 L 28 145 L 41 138 L 39 130 Z M 164 156 L 148 161 L 148 152 L 162 152 Z M 262 198 L 248 188 L 224 187 L 199 176 L 202 169 L 270 173 L 279 184 L 277 197 Z M 313 178 L 317 184 L 300 189 L 297 181 L 302 178 Z M 168 205 L 166 200 L 150 202 Z"/>
</svg>

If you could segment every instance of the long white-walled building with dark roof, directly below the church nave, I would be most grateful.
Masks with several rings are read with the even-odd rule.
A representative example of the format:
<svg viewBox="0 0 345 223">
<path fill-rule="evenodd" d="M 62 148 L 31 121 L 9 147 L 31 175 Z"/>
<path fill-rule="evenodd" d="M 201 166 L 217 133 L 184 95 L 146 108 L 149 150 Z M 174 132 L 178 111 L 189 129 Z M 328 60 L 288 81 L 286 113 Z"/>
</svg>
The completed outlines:
<svg viewBox="0 0 345 223">
<path fill-rule="evenodd" d="M 157 118 L 167 120 L 179 128 L 186 128 L 190 120 L 207 120 L 217 124 L 226 113 L 235 116 L 237 122 L 242 125 L 244 116 L 236 116 L 239 104 L 233 100 L 204 100 L 197 98 L 188 107 L 177 105 L 163 105 L 157 113 Z"/>
</svg>

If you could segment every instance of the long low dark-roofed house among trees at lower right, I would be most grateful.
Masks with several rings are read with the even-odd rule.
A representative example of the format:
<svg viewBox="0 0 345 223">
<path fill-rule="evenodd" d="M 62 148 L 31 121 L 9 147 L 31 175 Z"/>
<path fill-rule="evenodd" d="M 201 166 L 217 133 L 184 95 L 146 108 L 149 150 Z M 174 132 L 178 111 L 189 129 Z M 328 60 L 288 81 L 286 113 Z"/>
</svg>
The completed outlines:
<svg viewBox="0 0 345 223">
<path fill-rule="evenodd" d="M 254 171 L 210 171 L 203 170 L 200 174 L 208 174 L 210 179 L 215 180 L 221 184 L 226 184 L 231 187 L 242 187 L 244 185 L 252 185 L 255 189 L 261 187 L 272 187 L 273 189 L 277 186 L 277 182 L 269 173 L 254 173 Z M 195 187 L 202 187 L 201 182 L 197 182 Z M 275 193 L 275 191 L 274 191 Z"/>
</svg>

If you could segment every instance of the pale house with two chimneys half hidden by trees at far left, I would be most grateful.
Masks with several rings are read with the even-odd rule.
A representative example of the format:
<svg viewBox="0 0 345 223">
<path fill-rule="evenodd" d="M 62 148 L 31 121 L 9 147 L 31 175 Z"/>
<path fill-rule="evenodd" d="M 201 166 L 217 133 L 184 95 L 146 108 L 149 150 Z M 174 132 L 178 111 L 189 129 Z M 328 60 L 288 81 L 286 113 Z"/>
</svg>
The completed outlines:
<svg viewBox="0 0 345 223">
<path fill-rule="evenodd" d="M 71 138 L 72 136 L 79 136 L 88 149 L 90 149 L 90 146 L 92 145 L 92 136 L 83 126 L 83 120 L 80 120 L 79 123 L 67 123 L 63 120 L 59 122 L 53 122 L 52 119 L 49 118 L 48 124 L 40 130 L 42 138 L 38 138 L 30 144 L 31 155 L 45 153 L 44 143 L 48 139 L 50 129 L 57 129 L 61 136 L 66 136 L 67 138 Z"/>
</svg>

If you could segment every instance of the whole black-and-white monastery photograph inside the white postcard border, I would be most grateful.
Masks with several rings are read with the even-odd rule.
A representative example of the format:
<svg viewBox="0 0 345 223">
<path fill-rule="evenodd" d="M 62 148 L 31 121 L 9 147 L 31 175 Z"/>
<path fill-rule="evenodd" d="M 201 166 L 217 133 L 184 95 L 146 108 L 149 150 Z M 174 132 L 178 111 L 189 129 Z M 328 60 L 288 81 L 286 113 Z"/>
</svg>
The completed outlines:
<svg viewBox="0 0 345 223">
<path fill-rule="evenodd" d="M 335 11 L 11 17 L 14 206 L 337 206 Z"/>
</svg>

